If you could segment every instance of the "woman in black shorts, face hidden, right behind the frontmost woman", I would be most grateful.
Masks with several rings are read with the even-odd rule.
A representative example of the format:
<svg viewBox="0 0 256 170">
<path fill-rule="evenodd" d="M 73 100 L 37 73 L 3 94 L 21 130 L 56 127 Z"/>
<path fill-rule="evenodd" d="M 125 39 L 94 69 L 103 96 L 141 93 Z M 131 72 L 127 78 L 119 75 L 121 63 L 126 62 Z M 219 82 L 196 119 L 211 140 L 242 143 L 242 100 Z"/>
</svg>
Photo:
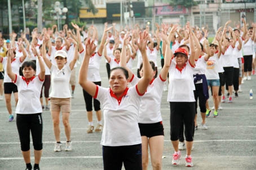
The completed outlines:
<svg viewBox="0 0 256 170">
<path fill-rule="evenodd" d="M 161 100 L 164 83 L 167 79 L 167 74 L 170 66 L 170 59 L 173 55 L 170 49 L 170 42 L 166 35 L 162 35 L 163 41 L 166 44 L 166 55 L 164 66 L 158 77 L 155 78 L 156 68 L 153 61 L 151 64 L 151 82 L 148 84 L 147 92 L 142 96 L 142 102 L 139 109 L 139 128 L 140 136 L 142 136 L 142 166 L 143 169 L 148 168 L 148 146 L 150 149 L 151 163 L 153 169 L 161 169 L 162 167 L 162 152 L 164 150 L 164 127 L 161 116 Z M 122 50 L 126 50 L 127 38 L 123 41 Z M 126 53 L 121 53 L 121 66 L 129 71 L 129 79 L 131 86 L 139 82 L 131 69 L 126 64 Z M 143 64 L 140 66 L 140 75 L 143 77 Z M 154 107 L 151 107 L 154 106 Z"/>
</svg>

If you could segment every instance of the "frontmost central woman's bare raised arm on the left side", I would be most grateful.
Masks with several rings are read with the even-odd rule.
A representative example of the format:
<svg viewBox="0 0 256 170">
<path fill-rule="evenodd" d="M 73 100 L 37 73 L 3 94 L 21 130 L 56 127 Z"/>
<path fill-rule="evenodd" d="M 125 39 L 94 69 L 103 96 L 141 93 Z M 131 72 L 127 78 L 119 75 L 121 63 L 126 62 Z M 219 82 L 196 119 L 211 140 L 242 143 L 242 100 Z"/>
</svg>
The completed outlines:
<svg viewBox="0 0 256 170">
<path fill-rule="evenodd" d="M 85 57 L 83 58 L 83 62 L 78 75 L 78 82 L 87 93 L 89 93 L 91 96 L 95 96 L 96 84 L 87 80 L 89 60 L 92 53 L 94 53 L 96 49 L 94 41 L 90 41 L 91 39 L 88 38 L 88 41 L 86 43 Z"/>
</svg>

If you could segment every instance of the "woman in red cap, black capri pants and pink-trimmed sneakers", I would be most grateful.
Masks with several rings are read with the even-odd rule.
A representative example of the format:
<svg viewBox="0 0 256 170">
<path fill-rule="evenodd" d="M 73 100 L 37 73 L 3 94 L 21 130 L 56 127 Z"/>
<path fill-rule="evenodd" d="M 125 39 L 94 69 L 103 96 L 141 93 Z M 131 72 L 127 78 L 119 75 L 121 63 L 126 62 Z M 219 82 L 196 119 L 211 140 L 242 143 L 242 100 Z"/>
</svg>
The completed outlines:
<svg viewBox="0 0 256 170">
<path fill-rule="evenodd" d="M 189 37 L 192 37 L 192 30 L 189 28 Z M 192 38 L 189 39 L 190 44 Z M 171 124 L 171 143 L 175 153 L 173 154 L 172 164 L 180 162 L 181 153 L 178 149 L 179 131 L 184 122 L 186 136 L 186 166 L 192 167 L 191 149 L 193 145 L 193 131 L 195 128 L 195 96 L 193 90 L 193 70 L 195 68 L 195 46 L 191 45 L 191 55 L 188 59 L 188 52 L 184 48 L 178 48 L 174 52 L 174 59 L 171 60 L 169 69 L 169 91 L 167 101 L 170 102 L 170 124 Z"/>
</svg>

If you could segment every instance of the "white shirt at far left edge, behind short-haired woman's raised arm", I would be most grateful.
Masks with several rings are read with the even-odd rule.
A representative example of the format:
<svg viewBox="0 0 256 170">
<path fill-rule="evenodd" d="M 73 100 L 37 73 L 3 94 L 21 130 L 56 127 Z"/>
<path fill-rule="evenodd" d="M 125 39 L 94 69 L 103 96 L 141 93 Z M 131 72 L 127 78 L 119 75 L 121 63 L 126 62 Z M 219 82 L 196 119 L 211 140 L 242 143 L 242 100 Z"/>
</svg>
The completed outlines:
<svg viewBox="0 0 256 170">
<path fill-rule="evenodd" d="M 0 61 L 0 62 L 2 62 L 3 68 L 5 70 L 7 70 L 7 58 L 8 57 L 2 57 L 2 60 Z M 19 75 L 20 65 L 21 65 L 20 58 L 15 57 L 14 60 L 11 62 L 12 72 Z M 12 80 L 11 80 L 10 77 L 8 77 L 7 73 L 5 73 L 5 77 L 3 78 L 3 82 L 4 83 L 12 83 Z"/>
</svg>

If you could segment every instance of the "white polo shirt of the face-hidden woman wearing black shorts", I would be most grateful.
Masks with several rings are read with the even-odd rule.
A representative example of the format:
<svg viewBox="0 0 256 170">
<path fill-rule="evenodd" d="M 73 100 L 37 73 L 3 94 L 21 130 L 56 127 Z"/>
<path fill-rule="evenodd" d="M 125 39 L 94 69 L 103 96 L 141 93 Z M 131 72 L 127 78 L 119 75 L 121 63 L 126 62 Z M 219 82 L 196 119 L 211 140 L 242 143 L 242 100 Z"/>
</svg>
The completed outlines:
<svg viewBox="0 0 256 170">
<path fill-rule="evenodd" d="M 139 78 L 133 75 L 131 85 L 137 84 Z M 139 109 L 139 123 L 157 123 L 162 121 L 161 100 L 164 82 L 159 75 L 156 79 L 151 80 L 147 91 L 142 96 L 142 102 Z"/>
</svg>

